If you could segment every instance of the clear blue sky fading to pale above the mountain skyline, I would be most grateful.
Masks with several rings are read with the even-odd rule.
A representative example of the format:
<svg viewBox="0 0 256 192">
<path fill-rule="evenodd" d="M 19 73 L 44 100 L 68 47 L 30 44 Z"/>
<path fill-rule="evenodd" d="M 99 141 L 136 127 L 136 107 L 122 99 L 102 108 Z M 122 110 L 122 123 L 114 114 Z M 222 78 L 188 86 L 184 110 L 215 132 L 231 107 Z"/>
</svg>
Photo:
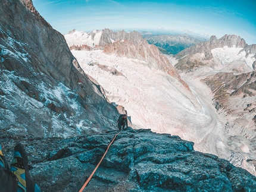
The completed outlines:
<svg viewBox="0 0 256 192">
<path fill-rule="evenodd" d="M 256 44 L 256 0 L 33 0 L 58 32 L 76 29 L 176 30 L 198 34 L 237 34 Z"/>
</svg>

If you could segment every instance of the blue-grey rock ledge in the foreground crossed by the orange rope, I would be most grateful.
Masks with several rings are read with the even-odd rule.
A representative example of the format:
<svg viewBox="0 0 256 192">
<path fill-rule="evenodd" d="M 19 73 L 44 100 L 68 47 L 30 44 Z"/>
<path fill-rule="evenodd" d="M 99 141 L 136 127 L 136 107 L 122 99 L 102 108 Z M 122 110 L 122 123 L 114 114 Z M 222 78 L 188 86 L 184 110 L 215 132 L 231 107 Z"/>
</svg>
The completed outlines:
<svg viewBox="0 0 256 192">
<path fill-rule="evenodd" d="M 116 133 L 20 142 L 42 191 L 79 191 Z M 8 140 L 2 145 L 11 158 L 19 140 Z M 255 185 L 254 175 L 196 152 L 190 141 L 128 128 L 118 134 L 86 191 L 253 191 Z"/>
</svg>

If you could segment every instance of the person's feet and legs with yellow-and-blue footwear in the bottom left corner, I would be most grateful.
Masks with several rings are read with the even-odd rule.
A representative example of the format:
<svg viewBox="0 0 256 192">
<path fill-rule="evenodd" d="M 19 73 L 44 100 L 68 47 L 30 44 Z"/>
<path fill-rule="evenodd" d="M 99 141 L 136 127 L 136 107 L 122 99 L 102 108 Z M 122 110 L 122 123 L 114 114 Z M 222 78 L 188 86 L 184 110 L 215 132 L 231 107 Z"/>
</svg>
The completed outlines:
<svg viewBox="0 0 256 192">
<path fill-rule="evenodd" d="M 21 144 L 14 147 L 14 158 L 9 169 L 0 143 L 0 190 L 1 192 L 40 192 L 40 188 L 30 177 L 27 154 Z"/>
</svg>

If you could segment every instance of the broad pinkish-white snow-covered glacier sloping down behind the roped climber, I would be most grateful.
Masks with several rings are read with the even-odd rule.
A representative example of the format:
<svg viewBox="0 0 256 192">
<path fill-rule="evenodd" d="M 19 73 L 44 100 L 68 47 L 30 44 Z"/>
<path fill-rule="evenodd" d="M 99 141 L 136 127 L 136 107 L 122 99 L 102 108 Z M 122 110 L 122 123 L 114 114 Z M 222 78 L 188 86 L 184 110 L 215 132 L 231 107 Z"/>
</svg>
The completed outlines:
<svg viewBox="0 0 256 192">
<path fill-rule="evenodd" d="M 213 140 L 215 137 L 209 136 L 210 133 L 213 129 L 220 130 L 221 126 L 195 91 L 197 102 L 192 101 L 192 94 L 183 89 L 179 81 L 163 71 L 146 67 L 145 61 L 118 58 L 100 50 L 72 50 L 72 53 L 85 73 L 101 84 L 110 102 L 124 106 L 136 128 L 175 134 L 195 142 L 201 151 L 217 153 L 216 147 L 208 150 L 215 140 L 209 143 L 206 137 Z M 123 75 L 88 65 L 93 62 L 114 67 Z M 220 131 L 214 132 L 216 139 L 219 138 Z"/>
</svg>

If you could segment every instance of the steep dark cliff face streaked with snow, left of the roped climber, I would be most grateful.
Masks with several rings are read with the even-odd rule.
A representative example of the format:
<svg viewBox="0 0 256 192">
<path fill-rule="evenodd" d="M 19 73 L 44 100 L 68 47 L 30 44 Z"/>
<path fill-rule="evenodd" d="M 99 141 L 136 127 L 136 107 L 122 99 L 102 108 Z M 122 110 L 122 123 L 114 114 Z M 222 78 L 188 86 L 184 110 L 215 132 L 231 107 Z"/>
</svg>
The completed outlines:
<svg viewBox="0 0 256 192">
<path fill-rule="evenodd" d="M 32 1 L 1 4 L 0 130 L 68 137 L 111 129 L 116 109 L 80 68 L 63 35 L 39 15 Z"/>
</svg>

